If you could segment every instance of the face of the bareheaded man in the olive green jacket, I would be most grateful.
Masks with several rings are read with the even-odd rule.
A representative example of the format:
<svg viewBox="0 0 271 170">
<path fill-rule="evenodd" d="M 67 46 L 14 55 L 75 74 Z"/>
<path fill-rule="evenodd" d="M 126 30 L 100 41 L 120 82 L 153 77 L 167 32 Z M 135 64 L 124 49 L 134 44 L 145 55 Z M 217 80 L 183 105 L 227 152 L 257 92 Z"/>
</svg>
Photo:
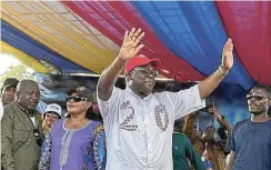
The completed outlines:
<svg viewBox="0 0 271 170">
<path fill-rule="evenodd" d="M 36 83 L 29 83 L 18 91 L 17 101 L 28 110 L 34 110 L 40 100 L 40 89 Z"/>
</svg>

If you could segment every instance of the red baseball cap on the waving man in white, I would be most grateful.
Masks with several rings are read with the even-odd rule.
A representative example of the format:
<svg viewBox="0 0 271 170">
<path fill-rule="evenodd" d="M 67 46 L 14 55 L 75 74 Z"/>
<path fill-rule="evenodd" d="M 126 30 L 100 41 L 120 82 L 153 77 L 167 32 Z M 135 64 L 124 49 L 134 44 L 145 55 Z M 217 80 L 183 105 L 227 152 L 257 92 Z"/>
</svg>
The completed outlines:
<svg viewBox="0 0 271 170">
<path fill-rule="evenodd" d="M 131 58 L 128 60 L 126 68 L 124 68 L 124 73 L 129 73 L 132 69 L 136 67 L 141 67 L 151 63 L 155 70 L 159 69 L 161 61 L 155 58 L 155 59 L 149 59 L 143 54 L 138 54 L 134 58 Z"/>
</svg>

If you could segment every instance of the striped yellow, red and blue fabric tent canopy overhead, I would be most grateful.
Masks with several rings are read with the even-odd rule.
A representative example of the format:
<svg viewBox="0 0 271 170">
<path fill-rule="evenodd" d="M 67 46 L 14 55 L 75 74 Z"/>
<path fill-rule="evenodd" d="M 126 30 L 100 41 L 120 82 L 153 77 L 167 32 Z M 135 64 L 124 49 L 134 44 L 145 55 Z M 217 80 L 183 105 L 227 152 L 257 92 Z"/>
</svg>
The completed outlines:
<svg viewBox="0 0 271 170">
<path fill-rule="evenodd" d="M 210 76 L 230 37 L 234 66 L 224 82 L 247 90 L 254 83 L 271 86 L 269 1 L 12 1 L 1 9 L 2 41 L 38 61 L 37 50 L 47 52 L 63 70 L 100 73 L 118 54 L 124 31 L 136 27 L 145 32 L 141 52 L 160 58 L 168 78 L 193 82 Z"/>
</svg>

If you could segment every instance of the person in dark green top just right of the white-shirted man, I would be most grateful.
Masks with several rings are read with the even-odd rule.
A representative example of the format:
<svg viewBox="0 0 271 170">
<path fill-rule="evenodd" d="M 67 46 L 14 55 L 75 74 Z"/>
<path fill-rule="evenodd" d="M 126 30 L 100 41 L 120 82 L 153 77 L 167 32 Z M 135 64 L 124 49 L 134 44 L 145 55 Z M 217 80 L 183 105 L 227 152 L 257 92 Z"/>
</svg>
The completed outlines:
<svg viewBox="0 0 271 170">
<path fill-rule="evenodd" d="M 189 170 L 189 162 L 191 162 L 194 170 L 205 170 L 200 156 L 195 152 L 190 140 L 183 134 L 181 121 L 178 120 L 174 123 L 174 133 L 172 138 L 172 158 L 174 170 Z"/>
</svg>

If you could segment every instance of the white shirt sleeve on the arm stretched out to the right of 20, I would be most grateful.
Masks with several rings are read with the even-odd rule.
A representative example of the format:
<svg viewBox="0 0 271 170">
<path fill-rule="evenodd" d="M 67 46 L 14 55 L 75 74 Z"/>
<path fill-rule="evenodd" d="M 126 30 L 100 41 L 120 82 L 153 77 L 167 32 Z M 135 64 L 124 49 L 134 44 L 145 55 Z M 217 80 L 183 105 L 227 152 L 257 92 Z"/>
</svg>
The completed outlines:
<svg viewBox="0 0 271 170">
<path fill-rule="evenodd" d="M 174 103 L 174 119 L 184 117 L 205 107 L 205 100 L 201 100 L 198 84 L 187 90 L 180 90 L 168 96 Z"/>
</svg>

